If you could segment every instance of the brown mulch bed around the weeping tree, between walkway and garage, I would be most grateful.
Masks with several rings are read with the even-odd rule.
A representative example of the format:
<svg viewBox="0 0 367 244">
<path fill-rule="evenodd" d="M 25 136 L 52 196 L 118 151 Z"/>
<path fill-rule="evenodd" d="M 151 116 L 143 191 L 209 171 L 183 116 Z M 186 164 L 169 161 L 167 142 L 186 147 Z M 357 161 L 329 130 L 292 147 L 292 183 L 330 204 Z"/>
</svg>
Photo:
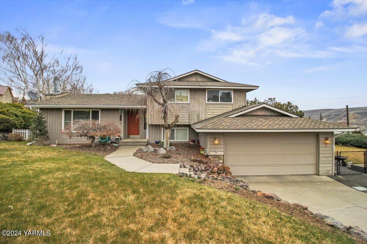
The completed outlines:
<svg viewBox="0 0 367 244">
<path fill-rule="evenodd" d="M 149 145 L 154 148 L 160 147 L 158 146 L 158 144 L 154 143 L 150 143 Z M 190 159 L 193 157 L 203 159 L 204 164 L 212 163 L 210 158 L 207 158 L 203 154 L 200 154 L 200 147 L 196 144 L 174 143 L 172 145 L 176 148 L 176 151 L 170 152 L 171 158 L 161 158 L 162 154 L 157 154 L 157 151 L 154 151 L 152 153 L 144 153 L 142 149 L 138 149 L 134 153 L 134 156 L 156 164 L 192 163 Z"/>
</svg>

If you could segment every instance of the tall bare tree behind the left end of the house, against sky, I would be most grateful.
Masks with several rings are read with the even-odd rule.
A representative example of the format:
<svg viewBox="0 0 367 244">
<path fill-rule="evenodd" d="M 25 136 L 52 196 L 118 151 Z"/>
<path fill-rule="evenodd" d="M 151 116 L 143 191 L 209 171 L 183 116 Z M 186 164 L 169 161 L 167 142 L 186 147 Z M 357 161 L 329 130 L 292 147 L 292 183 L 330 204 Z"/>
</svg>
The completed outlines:
<svg viewBox="0 0 367 244">
<path fill-rule="evenodd" d="M 86 82 L 83 66 L 76 55 L 60 62 L 59 56 L 50 56 L 43 35 L 32 37 L 26 29 L 17 29 L 18 37 L 6 31 L 0 34 L 2 82 L 18 91 L 32 90 L 39 95 L 51 93 L 54 76 L 61 78 L 61 91 L 92 93 Z"/>
</svg>

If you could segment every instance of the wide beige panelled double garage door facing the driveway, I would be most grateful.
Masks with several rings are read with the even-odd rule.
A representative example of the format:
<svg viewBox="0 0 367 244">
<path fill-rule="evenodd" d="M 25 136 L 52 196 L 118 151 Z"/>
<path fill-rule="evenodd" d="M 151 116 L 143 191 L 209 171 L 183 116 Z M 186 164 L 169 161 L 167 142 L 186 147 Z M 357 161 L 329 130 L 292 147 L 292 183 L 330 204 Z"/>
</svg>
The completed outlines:
<svg viewBox="0 0 367 244">
<path fill-rule="evenodd" d="M 235 176 L 317 173 L 316 134 L 226 133 L 224 143 Z"/>
</svg>

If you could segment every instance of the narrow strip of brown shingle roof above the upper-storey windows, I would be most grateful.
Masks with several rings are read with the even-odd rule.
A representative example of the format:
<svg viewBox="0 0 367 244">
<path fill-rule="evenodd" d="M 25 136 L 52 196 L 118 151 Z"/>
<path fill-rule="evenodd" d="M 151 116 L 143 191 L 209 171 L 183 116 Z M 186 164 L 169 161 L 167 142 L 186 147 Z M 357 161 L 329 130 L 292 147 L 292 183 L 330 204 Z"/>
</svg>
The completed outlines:
<svg viewBox="0 0 367 244">
<path fill-rule="evenodd" d="M 148 83 L 139 83 L 136 84 L 139 85 L 146 85 Z M 171 82 L 165 82 L 163 81 L 162 84 L 170 85 L 170 86 L 220 86 L 220 87 L 253 87 L 254 89 L 257 89 L 258 86 L 254 85 L 247 85 L 247 84 L 241 84 L 241 83 L 235 83 L 235 82 L 220 82 L 220 81 L 192 81 L 192 80 L 174 80 Z"/>
</svg>

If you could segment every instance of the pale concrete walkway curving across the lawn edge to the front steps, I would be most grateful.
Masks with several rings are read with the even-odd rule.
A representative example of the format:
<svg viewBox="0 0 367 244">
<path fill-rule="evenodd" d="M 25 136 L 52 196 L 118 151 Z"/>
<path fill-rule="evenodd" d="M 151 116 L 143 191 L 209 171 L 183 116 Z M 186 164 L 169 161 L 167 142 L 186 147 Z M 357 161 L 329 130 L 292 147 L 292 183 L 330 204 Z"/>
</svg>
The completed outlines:
<svg viewBox="0 0 367 244">
<path fill-rule="evenodd" d="M 119 147 L 119 149 L 107 155 L 105 159 L 121 169 L 130 172 L 172 174 L 177 174 L 179 172 L 179 164 L 153 164 L 134 157 L 132 154 L 139 148 L 141 147 Z"/>
</svg>

